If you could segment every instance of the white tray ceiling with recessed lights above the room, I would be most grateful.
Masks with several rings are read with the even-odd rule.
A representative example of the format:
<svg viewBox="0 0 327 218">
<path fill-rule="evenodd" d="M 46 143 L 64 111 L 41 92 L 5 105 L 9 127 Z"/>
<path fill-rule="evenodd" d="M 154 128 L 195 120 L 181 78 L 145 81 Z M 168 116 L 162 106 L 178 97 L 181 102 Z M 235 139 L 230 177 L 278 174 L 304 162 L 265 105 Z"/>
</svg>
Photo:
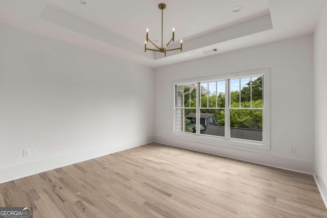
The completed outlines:
<svg viewBox="0 0 327 218">
<path fill-rule="evenodd" d="M 310 34 L 326 0 L 0 0 L 0 22 L 149 67 L 160 67 Z M 149 38 L 164 44 L 175 28 L 183 51 L 144 52 Z M 233 12 L 235 6 L 243 10 Z M 149 47 L 149 45 L 148 45 Z M 213 52 L 212 49 L 218 49 Z M 206 54 L 204 53 L 206 51 Z"/>
</svg>

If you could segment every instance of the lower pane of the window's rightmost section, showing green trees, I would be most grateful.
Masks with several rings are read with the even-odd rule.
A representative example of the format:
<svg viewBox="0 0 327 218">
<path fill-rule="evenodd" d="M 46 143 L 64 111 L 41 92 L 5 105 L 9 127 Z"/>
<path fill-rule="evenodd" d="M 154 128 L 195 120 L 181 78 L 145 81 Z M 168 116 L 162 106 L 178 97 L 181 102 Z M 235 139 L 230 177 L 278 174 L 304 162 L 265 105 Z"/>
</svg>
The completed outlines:
<svg viewBox="0 0 327 218">
<path fill-rule="evenodd" d="M 262 141 L 263 111 L 230 109 L 230 137 Z"/>
</svg>

